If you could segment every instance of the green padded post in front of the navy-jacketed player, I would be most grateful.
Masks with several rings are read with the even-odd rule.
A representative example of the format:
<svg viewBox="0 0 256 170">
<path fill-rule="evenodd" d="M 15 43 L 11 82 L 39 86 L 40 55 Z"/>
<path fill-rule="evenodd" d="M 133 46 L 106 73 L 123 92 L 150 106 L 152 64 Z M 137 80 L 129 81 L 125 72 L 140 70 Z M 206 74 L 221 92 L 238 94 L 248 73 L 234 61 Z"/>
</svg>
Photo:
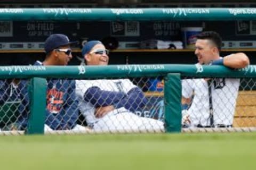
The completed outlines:
<svg viewBox="0 0 256 170">
<path fill-rule="evenodd" d="M 47 82 L 44 78 L 30 79 L 28 86 L 30 114 L 26 134 L 44 134 L 46 86 Z"/>
</svg>

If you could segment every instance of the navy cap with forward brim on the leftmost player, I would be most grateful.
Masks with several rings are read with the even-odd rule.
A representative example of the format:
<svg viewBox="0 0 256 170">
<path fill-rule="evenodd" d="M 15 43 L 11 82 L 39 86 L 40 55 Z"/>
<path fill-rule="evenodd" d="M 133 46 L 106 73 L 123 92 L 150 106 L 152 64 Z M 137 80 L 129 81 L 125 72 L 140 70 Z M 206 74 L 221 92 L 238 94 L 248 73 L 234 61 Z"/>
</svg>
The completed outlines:
<svg viewBox="0 0 256 170">
<path fill-rule="evenodd" d="M 69 41 L 68 37 L 63 34 L 52 34 L 49 36 L 44 43 L 44 50 L 46 53 L 51 52 L 53 49 L 57 49 L 60 46 L 66 46 L 75 44 L 77 41 Z"/>
</svg>

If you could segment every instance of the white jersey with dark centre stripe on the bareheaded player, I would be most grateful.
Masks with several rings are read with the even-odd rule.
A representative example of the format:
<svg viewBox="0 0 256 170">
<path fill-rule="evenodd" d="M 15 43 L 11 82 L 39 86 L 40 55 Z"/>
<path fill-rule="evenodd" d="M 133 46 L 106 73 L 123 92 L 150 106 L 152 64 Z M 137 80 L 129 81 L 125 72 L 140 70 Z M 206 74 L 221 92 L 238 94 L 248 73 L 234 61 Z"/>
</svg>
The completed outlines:
<svg viewBox="0 0 256 170">
<path fill-rule="evenodd" d="M 233 124 L 239 79 L 213 79 L 211 88 L 214 124 Z M 207 81 L 204 79 L 182 80 L 182 96 L 189 98 L 193 93 L 194 99 L 188 109 L 191 123 L 210 125 Z"/>
</svg>

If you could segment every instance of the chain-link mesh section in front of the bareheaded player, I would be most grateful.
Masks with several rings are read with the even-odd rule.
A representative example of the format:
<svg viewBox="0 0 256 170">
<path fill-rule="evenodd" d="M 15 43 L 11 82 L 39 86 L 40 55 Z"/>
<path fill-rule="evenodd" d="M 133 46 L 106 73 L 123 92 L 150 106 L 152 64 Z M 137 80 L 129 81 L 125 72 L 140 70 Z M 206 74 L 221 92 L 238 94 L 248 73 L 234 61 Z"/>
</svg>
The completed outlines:
<svg viewBox="0 0 256 170">
<path fill-rule="evenodd" d="M 255 94 L 254 79 L 183 79 L 183 131 L 252 130 L 256 127 Z"/>
</svg>

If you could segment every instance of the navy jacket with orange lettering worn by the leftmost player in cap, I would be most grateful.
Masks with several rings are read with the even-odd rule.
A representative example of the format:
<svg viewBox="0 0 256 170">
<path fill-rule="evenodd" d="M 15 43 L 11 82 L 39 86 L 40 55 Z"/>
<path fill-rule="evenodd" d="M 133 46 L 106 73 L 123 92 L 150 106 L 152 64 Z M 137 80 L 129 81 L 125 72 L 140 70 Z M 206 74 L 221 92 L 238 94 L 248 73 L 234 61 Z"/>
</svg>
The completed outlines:
<svg viewBox="0 0 256 170">
<path fill-rule="evenodd" d="M 36 62 L 34 65 L 42 65 Z M 20 83 L 23 95 L 22 105 L 19 108 L 22 112 L 20 124 L 22 129 L 27 126 L 29 114 L 29 96 L 27 81 Z M 76 125 L 78 119 L 78 101 L 75 95 L 75 80 L 47 79 L 46 94 L 46 120 L 45 123 L 53 130 L 70 130 Z"/>
</svg>

